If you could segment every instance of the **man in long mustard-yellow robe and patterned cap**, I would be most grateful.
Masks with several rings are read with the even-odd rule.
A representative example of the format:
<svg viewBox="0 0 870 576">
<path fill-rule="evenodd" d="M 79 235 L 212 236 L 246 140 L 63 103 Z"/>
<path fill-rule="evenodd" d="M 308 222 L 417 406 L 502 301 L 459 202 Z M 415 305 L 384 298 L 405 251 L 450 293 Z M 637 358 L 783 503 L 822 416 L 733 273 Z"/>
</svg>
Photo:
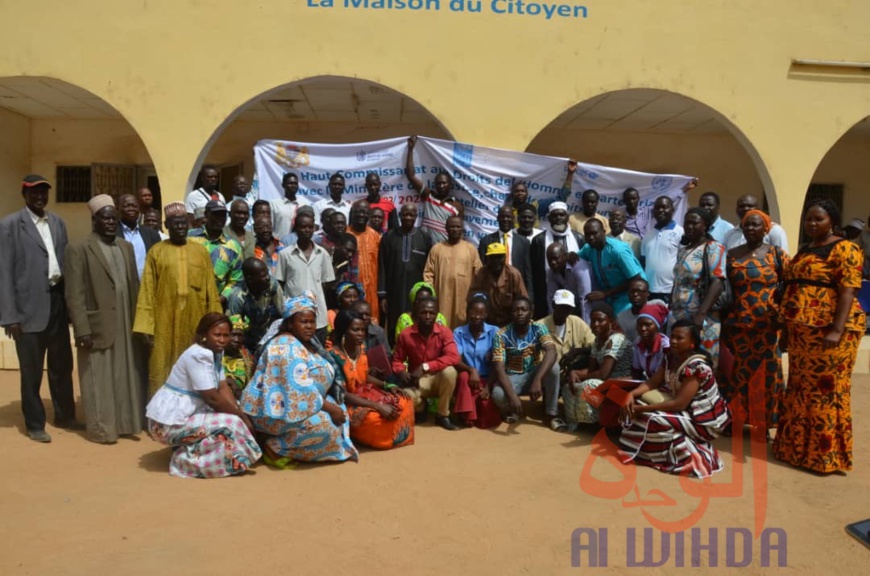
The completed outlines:
<svg viewBox="0 0 870 576">
<path fill-rule="evenodd" d="M 206 312 L 222 312 L 211 258 L 204 246 L 187 241 L 187 211 L 181 202 L 163 209 L 169 241 L 155 245 L 145 258 L 136 301 L 133 332 L 151 347 L 148 394 L 163 386 Z"/>
</svg>

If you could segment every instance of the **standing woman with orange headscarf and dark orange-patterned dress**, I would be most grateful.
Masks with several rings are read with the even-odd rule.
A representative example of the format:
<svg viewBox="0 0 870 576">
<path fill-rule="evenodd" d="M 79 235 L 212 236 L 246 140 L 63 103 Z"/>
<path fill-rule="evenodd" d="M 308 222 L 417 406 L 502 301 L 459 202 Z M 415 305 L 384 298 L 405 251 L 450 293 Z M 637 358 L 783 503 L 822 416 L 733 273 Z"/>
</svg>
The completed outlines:
<svg viewBox="0 0 870 576">
<path fill-rule="evenodd" d="M 776 428 L 783 392 L 777 286 L 789 258 L 782 248 L 765 243 L 771 220 L 761 210 L 744 214 L 740 227 L 746 244 L 728 251 L 734 302 L 722 331 L 734 365 L 721 388 L 739 420 L 768 432 Z"/>
</svg>

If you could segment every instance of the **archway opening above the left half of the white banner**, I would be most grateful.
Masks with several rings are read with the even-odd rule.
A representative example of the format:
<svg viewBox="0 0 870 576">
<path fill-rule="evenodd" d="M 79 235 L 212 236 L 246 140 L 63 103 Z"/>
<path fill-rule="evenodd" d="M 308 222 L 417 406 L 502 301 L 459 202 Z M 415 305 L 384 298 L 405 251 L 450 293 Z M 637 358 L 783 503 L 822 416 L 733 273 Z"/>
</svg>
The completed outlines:
<svg viewBox="0 0 870 576">
<path fill-rule="evenodd" d="M 251 177 L 253 147 L 263 139 L 341 144 L 412 134 L 452 138 L 428 110 L 390 87 L 344 76 L 306 78 L 239 106 L 205 144 L 191 189 L 205 164 L 219 167 L 225 183 L 238 174 Z"/>
</svg>

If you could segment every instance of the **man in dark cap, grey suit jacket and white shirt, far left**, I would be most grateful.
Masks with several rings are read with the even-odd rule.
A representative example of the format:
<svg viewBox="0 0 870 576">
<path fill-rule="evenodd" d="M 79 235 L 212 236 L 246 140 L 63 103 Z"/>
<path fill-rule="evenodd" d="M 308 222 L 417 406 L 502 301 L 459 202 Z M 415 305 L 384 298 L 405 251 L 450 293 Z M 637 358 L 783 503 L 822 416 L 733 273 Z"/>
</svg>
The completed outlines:
<svg viewBox="0 0 870 576">
<path fill-rule="evenodd" d="M 54 425 L 82 427 L 75 420 L 72 349 L 64 301 L 66 226 L 45 211 L 50 189 L 42 176 L 25 176 L 21 183 L 25 207 L 0 220 L 0 325 L 15 341 L 24 424 L 27 435 L 37 442 L 51 442 L 39 396 L 46 352 Z"/>
</svg>

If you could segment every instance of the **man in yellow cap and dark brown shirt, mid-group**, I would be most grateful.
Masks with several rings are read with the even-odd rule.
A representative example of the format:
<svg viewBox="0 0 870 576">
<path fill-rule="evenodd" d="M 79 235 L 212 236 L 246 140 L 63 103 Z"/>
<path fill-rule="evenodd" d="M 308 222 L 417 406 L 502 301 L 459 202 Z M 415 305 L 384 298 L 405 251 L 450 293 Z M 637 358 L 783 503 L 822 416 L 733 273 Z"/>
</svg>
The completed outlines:
<svg viewBox="0 0 870 576">
<path fill-rule="evenodd" d="M 507 263 L 507 248 L 493 242 L 486 247 L 486 263 L 471 279 L 468 296 L 477 292 L 489 298 L 487 322 L 498 327 L 511 321 L 511 307 L 518 296 L 528 297 L 520 271 Z"/>
</svg>

